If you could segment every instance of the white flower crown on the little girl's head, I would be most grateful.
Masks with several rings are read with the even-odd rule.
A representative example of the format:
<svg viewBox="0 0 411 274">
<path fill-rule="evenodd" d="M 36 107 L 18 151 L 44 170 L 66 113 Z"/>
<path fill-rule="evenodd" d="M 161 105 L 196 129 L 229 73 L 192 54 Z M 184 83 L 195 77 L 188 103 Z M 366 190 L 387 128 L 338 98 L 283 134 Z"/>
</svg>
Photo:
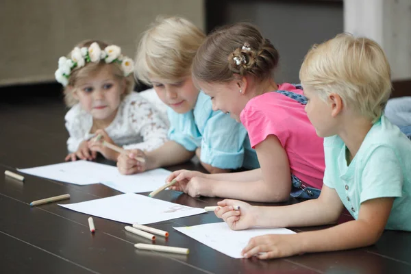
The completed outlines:
<svg viewBox="0 0 411 274">
<path fill-rule="evenodd" d="M 80 49 L 79 47 L 75 47 L 73 51 L 71 51 L 70 59 L 64 56 L 60 57 L 58 60 L 58 69 L 54 73 L 55 79 L 63 86 L 67 86 L 73 69 L 81 68 L 86 62 L 98 63 L 101 60 L 104 60 L 107 64 L 112 62 L 120 63 L 125 77 L 134 71 L 133 60 L 127 56 L 123 56 L 119 46 L 110 45 L 105 47 L 104 50 L 101 50 L 99 44 L 93 42 L 88 48 L 82 47 Z"/>
</svg>

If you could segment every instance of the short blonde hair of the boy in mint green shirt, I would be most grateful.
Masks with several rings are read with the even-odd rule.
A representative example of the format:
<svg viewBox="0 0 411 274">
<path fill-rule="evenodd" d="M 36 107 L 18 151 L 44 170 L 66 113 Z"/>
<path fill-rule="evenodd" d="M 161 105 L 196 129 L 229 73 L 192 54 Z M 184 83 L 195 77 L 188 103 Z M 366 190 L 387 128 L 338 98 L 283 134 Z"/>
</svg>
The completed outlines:
<svg viewBox="0 0 411 274">
<path fill-rule="evenodd" d="M 384 111 L 392 90 L 390 64 L 377 42 L 338 34 L 335 38 L 308 51 L 299 77 L 326 99 L 340 95 L 348 108 L 358 111 L 373 123 Z"/>
</svg>

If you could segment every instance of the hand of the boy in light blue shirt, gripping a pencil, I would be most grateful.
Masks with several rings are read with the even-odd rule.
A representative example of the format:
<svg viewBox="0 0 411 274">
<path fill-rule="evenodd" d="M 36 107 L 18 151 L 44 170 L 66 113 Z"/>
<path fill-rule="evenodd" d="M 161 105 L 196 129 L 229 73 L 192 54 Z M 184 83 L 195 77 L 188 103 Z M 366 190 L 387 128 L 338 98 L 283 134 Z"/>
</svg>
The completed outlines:
<svg viewBox="0 0 411 274">
<path fill-rule="evenodd" d="M 136 160 L 136 157 L 144 158 L 145 162 Z M 119 158 L 117 158 L 117 169 L 123 175 L 130 175 L 147 171 L 151 168 L 147 155 L 140 149 L 132 149 L 126 150 L 125 153 L 119 155 Z"/>
</svg>

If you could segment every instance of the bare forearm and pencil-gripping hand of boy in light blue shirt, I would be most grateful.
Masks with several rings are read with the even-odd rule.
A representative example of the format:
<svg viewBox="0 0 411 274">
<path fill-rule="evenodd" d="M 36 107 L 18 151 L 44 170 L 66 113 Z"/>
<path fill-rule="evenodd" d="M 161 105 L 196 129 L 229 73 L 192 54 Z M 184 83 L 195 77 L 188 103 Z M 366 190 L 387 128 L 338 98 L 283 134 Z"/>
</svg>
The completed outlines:
<svg viewBox="0 0 411 274">
<path fill-rule="evenodd" d="M 150 169 L 157 169 L 161 166 L 171 166 L 173 164 L 180 164 L 192 158 L 194 151 L 186 150 L 177 142 L 168 141 L 158 149 L 149 151 L 147 153 L 139 149 L 133 149 L 121 153 L 117 159 L 117 167 L 121 174 L 129 175 Z M 138 162 L 134 157 L 145 158 L 146 162 Z"/>
</svg>

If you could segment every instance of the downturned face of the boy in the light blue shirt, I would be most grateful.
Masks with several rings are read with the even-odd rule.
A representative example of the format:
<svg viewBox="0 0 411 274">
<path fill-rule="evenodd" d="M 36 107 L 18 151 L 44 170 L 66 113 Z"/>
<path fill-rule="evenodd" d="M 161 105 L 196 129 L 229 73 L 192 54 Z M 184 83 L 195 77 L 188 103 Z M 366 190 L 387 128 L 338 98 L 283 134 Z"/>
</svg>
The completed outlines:
<svg viewBox="0 0 411 274">
<path fill-rule="evenodd" d="M 175 112 L 186 113 L 195 107 L 199 89 L 192 83 L 191 76 L 176 83 L 165 82 L 157 78 L 150 79 L 150 82 L 161 101 Z"/>
</svg>

